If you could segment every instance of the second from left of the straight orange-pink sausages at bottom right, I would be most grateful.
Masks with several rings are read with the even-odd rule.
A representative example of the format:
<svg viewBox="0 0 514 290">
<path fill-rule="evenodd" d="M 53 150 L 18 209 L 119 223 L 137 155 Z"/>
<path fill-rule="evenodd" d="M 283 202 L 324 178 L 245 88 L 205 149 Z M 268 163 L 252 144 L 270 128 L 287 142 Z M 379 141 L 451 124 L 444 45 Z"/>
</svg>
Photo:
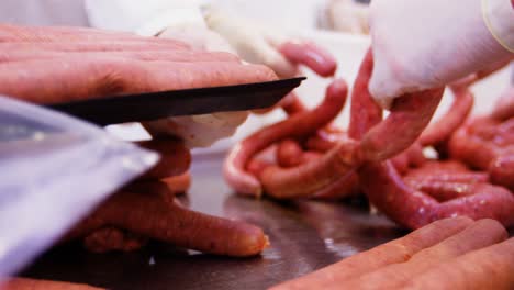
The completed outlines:
<svg viewBox="0 0 514 290">
<path fill-rule="evenodd" d="M 505 228 L 494 220 L 481 220 L 439 244 L 416 253 L 409 261 L 392 264 L 373 272 L 353 279 L 347 289 L 399 289 L 411 279 L 432 267 L 446 263 L 466 253 L 484 248 L 507 238 Z M 337 287 L 340 287 L 337 286 Z M 334 285 L 323 287 L 335 288 Z M 428 288 L 427 288 L 428 289 Z M 434 288 L 435 289 L 435 288 Z"/>
</svg>

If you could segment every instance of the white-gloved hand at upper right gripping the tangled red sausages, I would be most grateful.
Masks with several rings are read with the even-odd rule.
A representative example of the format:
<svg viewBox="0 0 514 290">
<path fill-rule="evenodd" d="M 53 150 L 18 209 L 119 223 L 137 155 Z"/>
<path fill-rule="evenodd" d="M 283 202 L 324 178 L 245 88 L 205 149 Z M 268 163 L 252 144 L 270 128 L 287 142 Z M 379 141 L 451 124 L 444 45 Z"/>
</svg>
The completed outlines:
<svg viewBox="0 0 514 290">
<path fill-rule="evenodd" d="M 369 89 L 383 108 L 513 58 L 511 0 L 373 0 Z"/>
</svg>

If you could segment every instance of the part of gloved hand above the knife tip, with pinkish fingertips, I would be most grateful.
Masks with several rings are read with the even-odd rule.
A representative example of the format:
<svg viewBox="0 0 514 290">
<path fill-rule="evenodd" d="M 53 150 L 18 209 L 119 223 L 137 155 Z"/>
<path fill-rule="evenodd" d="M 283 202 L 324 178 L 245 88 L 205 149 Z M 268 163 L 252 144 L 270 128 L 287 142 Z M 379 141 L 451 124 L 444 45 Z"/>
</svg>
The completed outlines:
<svg viewBox="0 0 514 290">
<path fill-rule="evenodd" d="M 244 60 L 262 64 L 281 77 L 293 77 L 303 64 L 323 77 L 333 76 L 334 58 L 319 46 L 291 40 L 275 27 L 254 23 L 215 7 L 204 9 L 206 25 L 222 35 Z"/>
</svg>

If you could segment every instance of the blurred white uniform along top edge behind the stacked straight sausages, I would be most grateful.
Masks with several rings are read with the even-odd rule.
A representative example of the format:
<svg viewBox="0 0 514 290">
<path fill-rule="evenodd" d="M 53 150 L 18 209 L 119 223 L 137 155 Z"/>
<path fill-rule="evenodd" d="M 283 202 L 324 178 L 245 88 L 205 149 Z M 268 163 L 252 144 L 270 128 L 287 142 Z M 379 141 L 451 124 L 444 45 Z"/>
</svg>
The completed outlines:
<svg viewBox="0 0 514 290">
<path fill-rule="evenodd" d="M 0 22 L 74 25 L 149 35 L 183 21 L 202 21 L 211 3 L 282 30 L 314 29 L 327 0 L 2 0 Z M 273 9 L 270 9 L 273 7 Z"/>
</svg>

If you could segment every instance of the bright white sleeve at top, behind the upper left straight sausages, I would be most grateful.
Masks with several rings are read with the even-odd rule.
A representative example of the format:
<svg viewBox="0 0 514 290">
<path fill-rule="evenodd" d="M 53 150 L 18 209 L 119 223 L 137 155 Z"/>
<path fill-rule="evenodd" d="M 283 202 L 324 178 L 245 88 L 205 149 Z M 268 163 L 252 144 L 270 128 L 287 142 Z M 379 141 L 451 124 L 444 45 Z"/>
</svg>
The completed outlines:
<svg viewBox="0 0 514 290">
<path fill-rule="evenodd" d="M 86 0 L 93 27 L 157 35 L 168 26 L 204 25 L 201 5 L 206 0 Z"/>
</svg>

